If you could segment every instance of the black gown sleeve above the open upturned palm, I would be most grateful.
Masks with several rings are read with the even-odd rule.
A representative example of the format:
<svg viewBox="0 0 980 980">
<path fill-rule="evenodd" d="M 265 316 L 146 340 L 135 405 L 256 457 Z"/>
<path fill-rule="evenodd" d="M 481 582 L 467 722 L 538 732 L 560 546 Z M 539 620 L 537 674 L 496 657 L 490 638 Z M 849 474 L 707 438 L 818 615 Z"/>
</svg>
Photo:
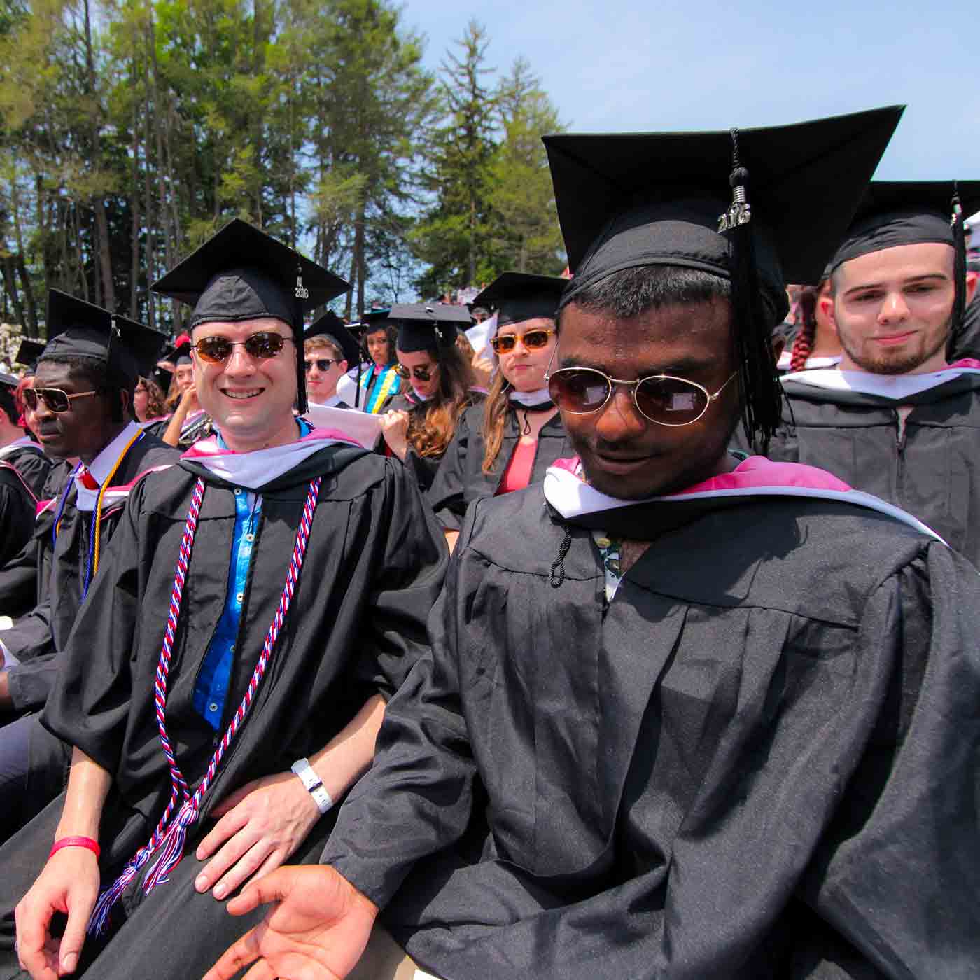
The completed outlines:
<svg viewBox="0 0 980 980">
<path fill-rule="evenodd" d="M 458 550 L 464 547 L 461 540 Z M 456 662 L 458 566 L 450 563 L 429 615 L 431 651 L 388 703 L 374 764 L 340 810 L 321 856 L 378 907 L 419 858 L 457 840 L 469 820 L 476 763 Z"/>
</svg>

